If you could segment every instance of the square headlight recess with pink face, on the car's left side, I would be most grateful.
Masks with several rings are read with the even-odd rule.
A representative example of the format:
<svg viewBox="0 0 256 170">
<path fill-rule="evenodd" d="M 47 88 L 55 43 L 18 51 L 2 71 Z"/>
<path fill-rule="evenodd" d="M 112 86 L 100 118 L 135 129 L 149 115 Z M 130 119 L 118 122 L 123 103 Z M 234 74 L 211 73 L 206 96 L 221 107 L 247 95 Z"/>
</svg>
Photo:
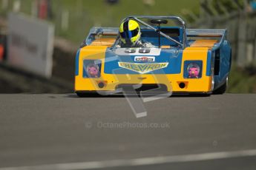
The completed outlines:
<svg viewBox="0 0 256 170">
<path fill-rule="evenodd" d="M 102 61 L 100 60 L 84 60 L 83 62 L 83 78 L 99 78 L 102 69 Z"/>
</svg>

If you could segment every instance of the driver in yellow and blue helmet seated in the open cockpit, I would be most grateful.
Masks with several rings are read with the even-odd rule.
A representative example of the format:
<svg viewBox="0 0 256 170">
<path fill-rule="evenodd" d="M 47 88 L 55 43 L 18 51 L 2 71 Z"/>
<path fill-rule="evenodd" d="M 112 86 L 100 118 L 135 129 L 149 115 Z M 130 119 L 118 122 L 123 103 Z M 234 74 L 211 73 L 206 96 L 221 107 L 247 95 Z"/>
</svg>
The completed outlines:
<svg viewBox="0 0 256 170">
<path fill-rule="evenodd" d="M 122 48 L 129 47 L 154 47 L 151 43 L 140 40 L 140 25 L 134 20 L 125 20 L 119 27 L 120 41 Z"/>
</svg>

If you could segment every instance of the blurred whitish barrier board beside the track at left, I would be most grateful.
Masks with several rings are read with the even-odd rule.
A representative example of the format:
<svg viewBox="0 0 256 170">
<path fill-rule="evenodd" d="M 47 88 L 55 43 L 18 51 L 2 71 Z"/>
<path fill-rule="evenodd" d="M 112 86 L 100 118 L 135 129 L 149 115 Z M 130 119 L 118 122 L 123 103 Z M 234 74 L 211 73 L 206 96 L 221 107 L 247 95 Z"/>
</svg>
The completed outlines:
<svg viewBox="0 0 256 170">
<path fill-rule="evenodd" d="M 50 78 L 53 67 L 54 27 L 36 18 L 8 16 L 7 62 Z"/>
</svg>

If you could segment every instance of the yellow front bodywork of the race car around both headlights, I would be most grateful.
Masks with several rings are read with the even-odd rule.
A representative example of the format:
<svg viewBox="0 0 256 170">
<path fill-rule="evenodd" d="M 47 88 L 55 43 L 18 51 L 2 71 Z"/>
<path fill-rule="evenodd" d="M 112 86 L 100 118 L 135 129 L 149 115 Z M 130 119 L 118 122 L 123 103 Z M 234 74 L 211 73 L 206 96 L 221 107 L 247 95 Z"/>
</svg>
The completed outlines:
<svg viewBox="0 0 256 170">
<path fill-rule="evenodd" d="M 79 54 L 79 74 L 75 78 L 75 92 L 86 91 L 114 91 L 119 84 L 165 84 L 169 92 L 211 92 L 212 77 L 206 76 L 206 63 L 209 48 L 214 45 L 214 41 L 209 41 L 206 47 L 203 46 L 203 41 L 195 41 L 194 45 L 187 47 L 183 50 L 183 61 L 180 74 L 165 74 L 165 75 L 152 75 L 152 74 L 137 74 L 137 75 L 113 75 L 105 74 L 105 51 L 108 45 L 100 46 L 90 45 L 83 47 Z M 200 46 L 201 47 L 198 47 Z M 83 78 L 83 61 L 87 60 L 101 60 L 102 69 L 100 78 Z M 188 79 L 183 78 L 183 64 L 184 61 L 203 61 L 202 78 Z M 105 86 L 99 88 L 99 82 L 103 82 Z M 180 88 L 179 84 L 184 83 L 185 88 Z"/>
</svg>

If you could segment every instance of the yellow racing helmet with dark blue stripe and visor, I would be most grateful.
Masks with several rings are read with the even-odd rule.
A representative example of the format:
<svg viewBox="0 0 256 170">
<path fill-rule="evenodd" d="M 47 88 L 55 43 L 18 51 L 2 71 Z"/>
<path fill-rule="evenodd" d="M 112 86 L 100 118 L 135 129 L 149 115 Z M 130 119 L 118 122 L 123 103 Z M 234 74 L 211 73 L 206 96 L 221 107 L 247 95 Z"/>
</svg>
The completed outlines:
<svg viewBox="0 0 256 170">
<path fill-rule="evenodd" d="M 137 21 L 123 21 L 119 28 L 121 41 L 125 44 L 133 44 L 140 39 L 140 25 Z"/>
</svg>

